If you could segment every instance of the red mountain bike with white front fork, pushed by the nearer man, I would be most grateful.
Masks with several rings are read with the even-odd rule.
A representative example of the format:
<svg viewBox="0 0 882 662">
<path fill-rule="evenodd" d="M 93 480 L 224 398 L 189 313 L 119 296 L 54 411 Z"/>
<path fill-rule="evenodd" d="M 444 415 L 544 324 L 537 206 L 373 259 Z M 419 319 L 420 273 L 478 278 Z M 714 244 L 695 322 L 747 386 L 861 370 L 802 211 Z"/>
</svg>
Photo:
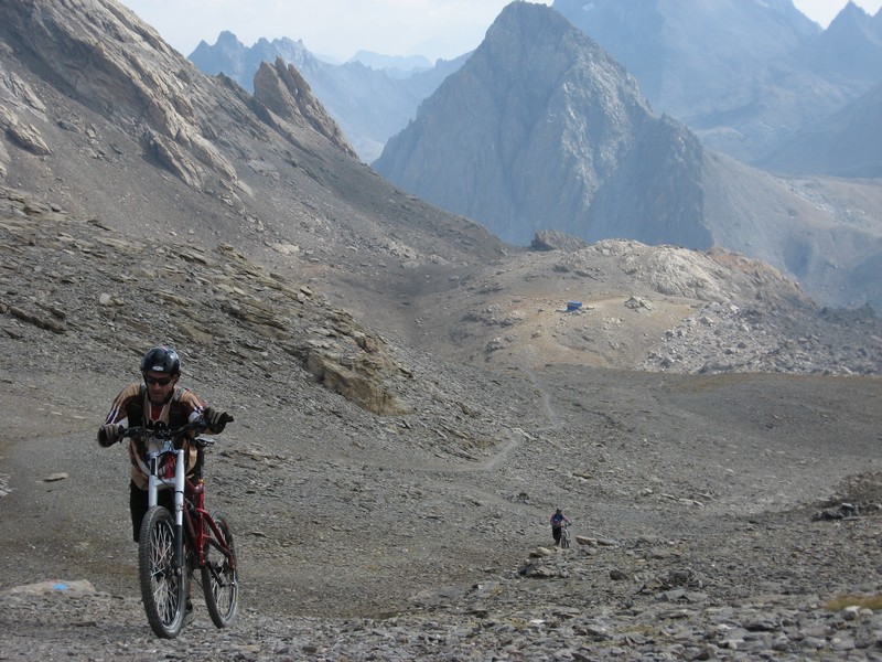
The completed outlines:
<svg viewBox="0 0 882 662">
<path fill-rule="evenodd" d="M 195 439 L 197 460 L 191 477 L 185 476 L 184 450 L 175 448 L 185 433 L 206 427 L 207 421 L 201 419 L 178 429 L 132 427 L 121 433 L 122 437 L 140 437 L 147 447 L 150 510 L 141 523 L 138 574 L 147 620 L 163 639 L 178 637 L 184 626 L 189 585 L 196 569 L 217 628 L 226 628 L 238 608 L 238 570 L 229 523 L 222 513 L 205 510 L 202 466 L 205 448 L 214 439 Z M 174 490 L 174 513 L 159 505 L 161 490 Z"/>
</svg>

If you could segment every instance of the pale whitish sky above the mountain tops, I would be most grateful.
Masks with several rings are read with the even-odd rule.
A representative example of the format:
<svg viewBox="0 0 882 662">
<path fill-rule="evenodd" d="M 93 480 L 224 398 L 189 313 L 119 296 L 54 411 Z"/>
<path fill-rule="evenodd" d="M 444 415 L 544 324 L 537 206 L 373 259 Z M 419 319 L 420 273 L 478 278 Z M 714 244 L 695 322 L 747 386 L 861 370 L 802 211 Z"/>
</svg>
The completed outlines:
<svg viewBox="0 0 882 662">
<path fill-rule="evenodd" d="M 251 46 L 265 36 L 303 40 L 345 62 L 356 51 L 452 60 L 467 53 L 510 0 L 120 0 L 183 55 L 228 30 Z M 551 4 L 552 0 L 542 0 Z M 627 1 L 627 0 L 622 0 Z M 826 28 L 848 0 L 794 0 Z M 854 0 L 873 15 L 882 0 Z"/>
</svg>

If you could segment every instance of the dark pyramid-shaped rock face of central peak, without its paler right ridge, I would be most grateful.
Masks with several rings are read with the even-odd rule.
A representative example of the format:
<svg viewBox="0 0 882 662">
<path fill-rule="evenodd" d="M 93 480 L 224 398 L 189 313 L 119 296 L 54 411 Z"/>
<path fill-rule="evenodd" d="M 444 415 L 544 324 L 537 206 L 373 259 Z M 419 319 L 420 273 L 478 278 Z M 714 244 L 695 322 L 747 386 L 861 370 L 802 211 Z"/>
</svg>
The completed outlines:
<svg viewBox="0 0 882 662">
<path fill-rule="evenodd" d="M 374 167 L 516 244 L 541 228 L 596 239 L 660 211 L 657 237 L 707 248 L 700 154 L 593 41 L 547 7 L 515 2 Z M 613 183 L 638 173 L 639 190 Z M 616 200 L 592 206 L 602 190 Z"/>
</svg>

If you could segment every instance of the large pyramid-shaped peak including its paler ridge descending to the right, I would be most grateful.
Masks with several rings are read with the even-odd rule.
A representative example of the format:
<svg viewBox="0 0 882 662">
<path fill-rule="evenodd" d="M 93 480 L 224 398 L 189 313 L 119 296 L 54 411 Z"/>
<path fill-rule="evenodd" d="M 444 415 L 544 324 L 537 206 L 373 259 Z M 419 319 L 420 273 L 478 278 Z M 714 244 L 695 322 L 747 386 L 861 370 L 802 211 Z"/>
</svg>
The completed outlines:
<svg viewBox="0 0 882 662">
<path fill-rule="evenodd" d="M 551 14 L 508 6 L 375 168 L 514 244 L 556 229 L 589 242 L 719 245 L 770 263 L 824 303 L 875 306 L 879 292 L 857 275 L 878 261 L 872 223 L 847 217 L 835 200 L 814 204 L 803 185 L 721 157 L 679 121 L 654 117 L 626 71 Z M 846 245 L 860 249 L 847 257 Z M 849 264 L 838 291 L 832 260 Z"/>
</svg>

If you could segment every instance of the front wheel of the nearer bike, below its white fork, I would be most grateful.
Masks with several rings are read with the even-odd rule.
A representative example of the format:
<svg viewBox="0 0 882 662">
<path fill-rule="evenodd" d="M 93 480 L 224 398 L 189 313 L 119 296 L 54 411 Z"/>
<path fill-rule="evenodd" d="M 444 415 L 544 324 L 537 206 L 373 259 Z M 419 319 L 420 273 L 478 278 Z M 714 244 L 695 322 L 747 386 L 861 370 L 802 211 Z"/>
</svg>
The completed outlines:
<svg viewBox="0 0 882 662">
<path fill-rule="evenodd" d="M 174 567 L 174 520 L 161 505 L 141 523 L 138 574 L 147 620 L 158 637 L 174 639 L 184 624 L 185 568 Z"/>
</svg>

